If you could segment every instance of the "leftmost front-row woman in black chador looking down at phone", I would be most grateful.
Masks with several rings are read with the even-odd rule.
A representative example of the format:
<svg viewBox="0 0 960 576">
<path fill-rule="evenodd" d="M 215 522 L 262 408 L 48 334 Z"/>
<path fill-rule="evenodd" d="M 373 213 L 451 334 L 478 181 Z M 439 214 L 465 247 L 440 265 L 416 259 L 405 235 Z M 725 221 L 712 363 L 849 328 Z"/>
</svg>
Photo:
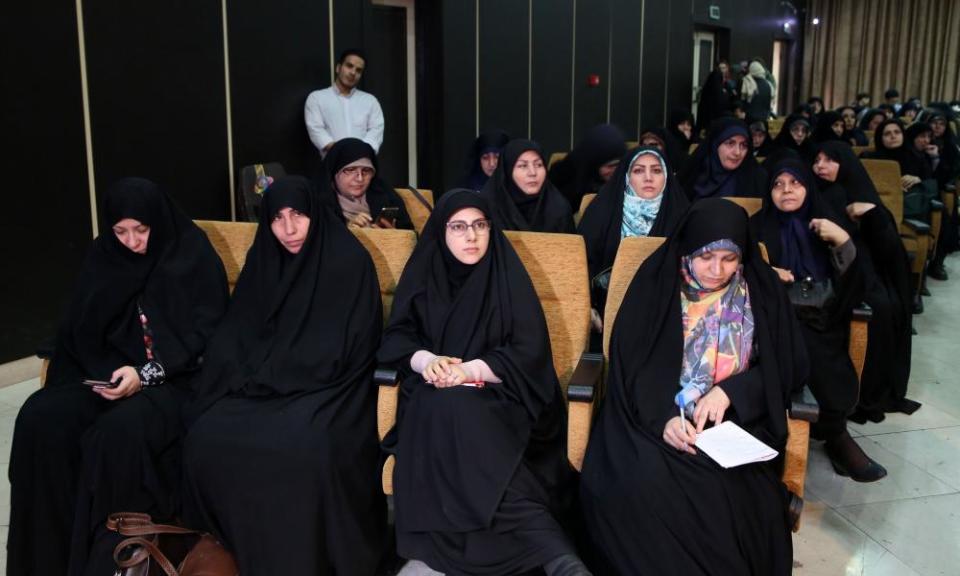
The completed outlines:
<svg viewBox="0 0 960 576">
<path fill-rule="evenodd" d="M 70 574 L 112 574 L 109 514 L 176 515 L 185 376 L 227 308 L 226 275 L 153 182 L 114 184 L 104 215 L 110 228 L 84 261 L 46 387 L 17 416 L 11 575 L 66 574 L 68 562 Z"/>
</svg>

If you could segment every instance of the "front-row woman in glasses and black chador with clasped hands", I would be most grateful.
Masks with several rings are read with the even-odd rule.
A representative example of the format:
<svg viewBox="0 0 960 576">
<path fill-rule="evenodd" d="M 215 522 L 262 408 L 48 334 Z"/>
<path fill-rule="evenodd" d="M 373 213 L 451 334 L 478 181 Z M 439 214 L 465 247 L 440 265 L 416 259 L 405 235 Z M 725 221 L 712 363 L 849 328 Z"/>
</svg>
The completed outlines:
<svg viewBox="0 0 960 576">
<path fill-rule="evenodd" d="M 587 574 L 558 522 L 570 468 L 546 320 L 489 214 L 472 191 L 443 196 L 378 355 L 403 378 L 385 442 L 397 551 L 405 573 Z"/>
</svg>

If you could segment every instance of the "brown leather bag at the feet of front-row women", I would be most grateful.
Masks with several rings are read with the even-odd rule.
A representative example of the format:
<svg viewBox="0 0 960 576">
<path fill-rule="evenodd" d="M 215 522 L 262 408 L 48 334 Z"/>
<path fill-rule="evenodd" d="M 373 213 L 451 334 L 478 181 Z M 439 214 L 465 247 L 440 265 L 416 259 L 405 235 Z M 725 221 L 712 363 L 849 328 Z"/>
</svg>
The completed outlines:
<svg viewBox="0 0 960 576">
<path fill-rule="evenodd" d="M 107 528 L 129 536 L 113 550 L 116 576 L 238 576 L 237 563 L 210 534 L 154 524 L 149 514 L 118 512 Z"/>
</svg>

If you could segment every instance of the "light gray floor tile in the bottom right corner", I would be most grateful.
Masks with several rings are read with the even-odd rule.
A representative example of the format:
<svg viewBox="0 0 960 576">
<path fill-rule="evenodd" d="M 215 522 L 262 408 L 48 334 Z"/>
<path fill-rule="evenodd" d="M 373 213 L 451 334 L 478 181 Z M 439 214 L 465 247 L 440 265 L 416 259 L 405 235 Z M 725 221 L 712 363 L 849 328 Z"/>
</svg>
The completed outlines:
<svg viewBox="0 0 960 576">
<path fill-rule="evenodd" d="M 924 576 L 960 573 L 960 494 L 837 510 Z"/>
</svg>

